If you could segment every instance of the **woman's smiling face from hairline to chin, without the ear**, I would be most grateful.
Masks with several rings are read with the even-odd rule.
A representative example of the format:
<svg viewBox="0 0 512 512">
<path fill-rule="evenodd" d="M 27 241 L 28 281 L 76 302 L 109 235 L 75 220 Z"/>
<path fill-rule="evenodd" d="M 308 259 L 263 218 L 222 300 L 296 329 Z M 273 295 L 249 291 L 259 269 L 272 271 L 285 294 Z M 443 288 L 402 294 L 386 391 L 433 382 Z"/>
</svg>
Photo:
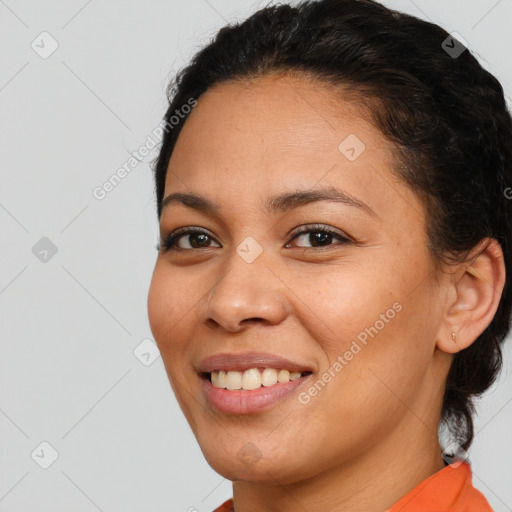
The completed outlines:
<svg viewBox="0 0 512 512">
<path fill-rule="evenodd" d="M 183 126 L 164 198 L 195 194 L 215 208 L 164 207 L 162 241 L 181 227 L 206 236 L 181 235 L 159 252 L 148 313 L 183 413 L 226 478 L 291 483 L 402 457 L 408 443 L 437 446 L 449 363 L 436 349 L 442 289 L 424 209 L 394 164 L 353 104 L 297 78 L 217 85 Z M 355 202 L 295 196 L 267 208 L 274 196 L 313 191 Z M 312 373 L 273 387 L 267 371 L 269 385 L 216 388 L 210 399 L 202 361 L 248 353 Z M 276 400 L 278 389 L 288 392 Z M 258 408 L 263 393 L 271 400 Z"/>
</svg>

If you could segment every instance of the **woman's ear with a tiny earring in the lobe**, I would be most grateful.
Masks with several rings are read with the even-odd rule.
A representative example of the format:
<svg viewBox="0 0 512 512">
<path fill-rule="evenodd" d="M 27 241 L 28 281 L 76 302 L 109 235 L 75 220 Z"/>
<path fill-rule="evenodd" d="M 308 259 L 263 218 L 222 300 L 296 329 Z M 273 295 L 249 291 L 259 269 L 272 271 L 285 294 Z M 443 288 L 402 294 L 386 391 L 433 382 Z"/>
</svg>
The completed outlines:
<svg viewBox="0 0 512 512">
<path fill-rule="evenodd" d="M 446 304 L 436 346 L 453 354 L 469 347 L 491 323 L 498 309 L 505 286 L 503 250 L 498 241 L 481 240 L 446 286 Z"/>
</svg>

